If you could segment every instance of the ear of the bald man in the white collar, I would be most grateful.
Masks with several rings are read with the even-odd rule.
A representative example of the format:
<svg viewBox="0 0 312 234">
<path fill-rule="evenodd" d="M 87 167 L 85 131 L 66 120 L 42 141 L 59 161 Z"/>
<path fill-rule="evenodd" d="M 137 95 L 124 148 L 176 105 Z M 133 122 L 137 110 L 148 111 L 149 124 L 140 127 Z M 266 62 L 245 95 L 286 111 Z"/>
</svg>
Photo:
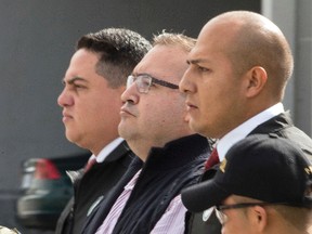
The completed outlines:
<svg viewBox="0 0 312 234">
<path fill-rule="evenodd" d="M 246 74 L 246 96 L 258 95 L 268 80 L 268 74 L 261 66 L 255 66 Z"/>
</svg>

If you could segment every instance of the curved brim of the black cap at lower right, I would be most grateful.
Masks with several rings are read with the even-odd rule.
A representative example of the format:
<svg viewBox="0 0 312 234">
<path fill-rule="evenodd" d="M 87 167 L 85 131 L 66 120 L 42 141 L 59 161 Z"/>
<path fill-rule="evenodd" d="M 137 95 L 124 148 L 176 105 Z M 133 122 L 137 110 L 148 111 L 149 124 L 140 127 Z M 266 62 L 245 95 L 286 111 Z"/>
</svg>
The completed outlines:
<svg viewBox="0 0 312 234">
<path fill-rule="evenodd" d="M 182 203 L 192 212 L 200 212 L 221 204 L 231 194 L 222 190 L 214 180 L 200 182 L 182 191 Z"/>
</svg>

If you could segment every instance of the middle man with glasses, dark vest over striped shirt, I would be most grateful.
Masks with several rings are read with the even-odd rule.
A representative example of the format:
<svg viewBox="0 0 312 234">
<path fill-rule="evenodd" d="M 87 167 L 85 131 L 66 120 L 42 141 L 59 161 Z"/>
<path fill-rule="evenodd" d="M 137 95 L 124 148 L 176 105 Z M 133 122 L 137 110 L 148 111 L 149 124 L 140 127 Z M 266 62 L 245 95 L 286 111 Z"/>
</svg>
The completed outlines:
<svg viewBox="0 0 312 234">
<path fill-rule="evenodd" d="M 210 151 L 188 128 L 178 83 L 195 40 L 164 32 L 128 77 L 118 130 L 138 158 L 83 233 L 183 234 L 181 190 L 196 183 Z"/>
</svg>

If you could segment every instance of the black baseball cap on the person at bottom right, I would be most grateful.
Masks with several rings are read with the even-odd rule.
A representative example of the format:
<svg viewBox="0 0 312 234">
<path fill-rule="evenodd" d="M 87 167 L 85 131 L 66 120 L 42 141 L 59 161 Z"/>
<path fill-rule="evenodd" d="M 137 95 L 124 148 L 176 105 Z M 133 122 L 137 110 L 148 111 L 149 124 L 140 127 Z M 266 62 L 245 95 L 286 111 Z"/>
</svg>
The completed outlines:
<svg viewBox="0 0 312 234">
<path fill-rule="evenodd" d="M 311 184 L 312 166 L 295 143 L 256 134 L 227 152 L 213 179 L 185 188 L 182 202 L 193 212 L 230 195 L 312 208 Z"/>
</svg>

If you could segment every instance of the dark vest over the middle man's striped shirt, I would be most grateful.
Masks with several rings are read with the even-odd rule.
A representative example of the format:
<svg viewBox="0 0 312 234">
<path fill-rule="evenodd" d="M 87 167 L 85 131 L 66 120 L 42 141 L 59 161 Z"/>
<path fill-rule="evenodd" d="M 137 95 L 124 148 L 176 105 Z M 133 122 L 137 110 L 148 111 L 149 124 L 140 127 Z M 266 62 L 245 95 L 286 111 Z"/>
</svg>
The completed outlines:
<svg viewBox="0 0 312 234">
<path fill-rule="evenodd" d="M 123 209 L 114 233 L 147 233 L 146 230 L 154 227 L 171 199 L 180 194 L 183 187 L 198 181 L 203 173 L 204 162 L 210 152 L 208 146 L 206 138 L 194 134 L 169 142 L 161 148 L 153 147 L 144 164 L 136 157 L 118 185 L 107 194 L 106 199 L 98 207 L 99 209 L 94 209 L 94 212 L 88 217 L 82 233 L 91 234 L 96 232 L 116 199 L 122 193 L 125 185 L 142 167 L 142 172 L 127 202 L 127 208 L 126 210 Z M 202 169 L 199 170 L 198 168 Z M 151 177 L 153 178 L 152 184 Z M 156 197 L 152 198 L 153 202 L 151 202 L 153 196 Z M 136 203 L 138 200 L 140 200 L 140 204 Z M 146 205 L 147 203 L 148 206 Z M 144 207 L 144 209 L 141 209 L 141 207 Z M 130 221 L 130 216 L 133 221 Z M 140 218 L 138 219 L 138 217 Z M 133 226 L 135 221 L 138 221 L 135 227 L 129 227 Z M 120 225 L 118 226 L 118 224 Z M 144 227 L 142 227 L 143 224 Z M 120 226 L 122 226 L 121 232 L 118 230 Z"/>
</svg>

